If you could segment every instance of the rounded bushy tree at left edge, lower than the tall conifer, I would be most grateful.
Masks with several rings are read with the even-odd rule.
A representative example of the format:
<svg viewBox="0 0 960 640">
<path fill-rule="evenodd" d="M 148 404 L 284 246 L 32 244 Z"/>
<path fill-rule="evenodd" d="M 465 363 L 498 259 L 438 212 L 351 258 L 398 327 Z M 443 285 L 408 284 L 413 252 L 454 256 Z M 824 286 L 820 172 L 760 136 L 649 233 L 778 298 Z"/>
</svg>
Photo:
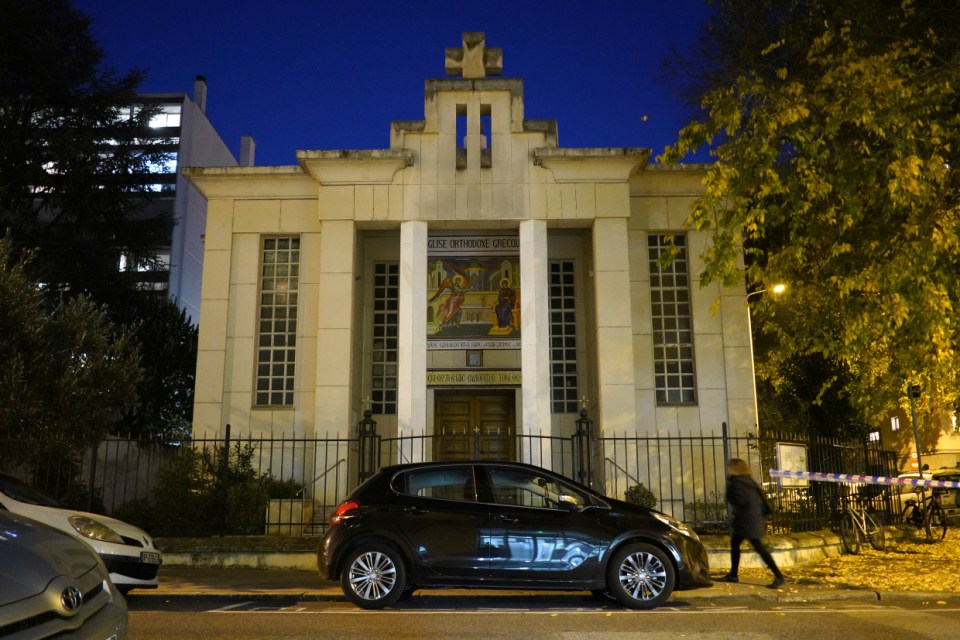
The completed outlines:
<svg viewBox="0 0 960 640">
<path fill-rule="evenodd" d="M 50 304 L 12 253 L 0 240 L 0 437 L 94 444 L 136 400 L 131 332 L 87 296 Z"/>
</svg>

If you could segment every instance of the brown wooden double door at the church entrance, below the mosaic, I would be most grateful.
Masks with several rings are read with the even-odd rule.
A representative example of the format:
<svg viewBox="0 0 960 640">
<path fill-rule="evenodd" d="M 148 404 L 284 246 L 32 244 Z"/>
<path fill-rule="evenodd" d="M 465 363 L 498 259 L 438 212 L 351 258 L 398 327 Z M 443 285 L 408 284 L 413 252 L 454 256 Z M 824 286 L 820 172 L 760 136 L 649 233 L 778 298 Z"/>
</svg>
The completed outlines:
<svg viewBox="0 0 960 640">
<path fill-rule="evenodd" d="M 511 390 L 434 392 L 434 460 L 515 460 Z"/>
</svg>

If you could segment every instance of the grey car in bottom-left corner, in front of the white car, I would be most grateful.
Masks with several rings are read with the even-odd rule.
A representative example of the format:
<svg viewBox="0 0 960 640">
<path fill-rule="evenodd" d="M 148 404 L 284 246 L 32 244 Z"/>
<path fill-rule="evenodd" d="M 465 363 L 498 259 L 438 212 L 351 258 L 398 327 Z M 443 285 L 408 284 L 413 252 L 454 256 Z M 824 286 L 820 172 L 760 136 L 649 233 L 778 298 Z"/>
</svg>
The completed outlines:
<svg viewBox="0 0 960 640">
<path fill-rule="evenodd" d="M 0 638 L 123 640 L 127 603 L 86 544 L 0 510 Z"/>
</svg>

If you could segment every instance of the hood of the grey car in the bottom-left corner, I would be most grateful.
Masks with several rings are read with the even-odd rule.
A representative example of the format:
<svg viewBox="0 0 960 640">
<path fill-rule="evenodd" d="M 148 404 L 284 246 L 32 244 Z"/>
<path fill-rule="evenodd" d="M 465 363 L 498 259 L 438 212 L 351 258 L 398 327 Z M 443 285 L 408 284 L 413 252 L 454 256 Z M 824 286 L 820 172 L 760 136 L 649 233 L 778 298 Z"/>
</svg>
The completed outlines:
<svg viewBox="0 0 960 640">
<path fill-rule="evenodd" d="M 99 559 L 79 540 L 9 512 L 0 512 L 0 606 L 42 592 L 58 575 L 79 578 Z"/>
</svg>

